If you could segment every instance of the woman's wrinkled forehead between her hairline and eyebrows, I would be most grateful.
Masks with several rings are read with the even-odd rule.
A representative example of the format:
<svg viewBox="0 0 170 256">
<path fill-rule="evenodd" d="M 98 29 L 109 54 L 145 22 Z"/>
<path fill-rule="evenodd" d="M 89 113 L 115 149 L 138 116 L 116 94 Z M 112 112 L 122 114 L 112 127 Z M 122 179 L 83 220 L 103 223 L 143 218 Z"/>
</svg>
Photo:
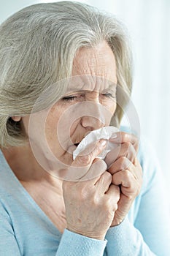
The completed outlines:
<svg viewBox="0 0 170 256">
<path fill-rule="evenodd" d="M 93 48 L 78 50 L 72 69 L 73 76 L 92 75 L 117 83 L 115 56 L 107 42 Z"/>
</svg>

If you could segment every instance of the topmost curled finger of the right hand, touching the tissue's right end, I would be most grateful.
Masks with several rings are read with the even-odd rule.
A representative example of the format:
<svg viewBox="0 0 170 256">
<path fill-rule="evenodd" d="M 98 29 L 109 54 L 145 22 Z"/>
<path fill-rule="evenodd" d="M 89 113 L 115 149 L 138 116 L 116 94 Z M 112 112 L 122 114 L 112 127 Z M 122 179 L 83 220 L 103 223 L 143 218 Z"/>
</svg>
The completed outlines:
<svg viewBox="0 0 170 256">
<path fill-rule="evenodd" d="M 139 139 L 132 133 L 130 134 L 127 132 L 115 132 L 113 134 L 113 138 L 111 137 L 109 141 L 116 144 L 122 144 L 122 143 L 128 142 L 134 146 L 136 151 L 138 151 L 139 149 Z"/>
</svg>

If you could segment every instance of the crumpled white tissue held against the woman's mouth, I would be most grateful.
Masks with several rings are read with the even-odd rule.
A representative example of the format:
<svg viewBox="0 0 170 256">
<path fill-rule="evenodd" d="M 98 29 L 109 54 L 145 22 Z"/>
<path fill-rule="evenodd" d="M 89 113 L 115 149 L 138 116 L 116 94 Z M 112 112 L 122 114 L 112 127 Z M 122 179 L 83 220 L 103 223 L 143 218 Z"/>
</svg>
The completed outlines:
<svg viewBox="0 0 170 256">
<path fill-rule="evenodd" d="M 90 143 L 93 143 L 100 139 L 105 139 L 108 140 L 107 147 L 104 149 L 104 151 L 101 152 L 101 154 L 98 155 L 98 158 L 104 159 L 109 151 L 117 147 L 116 144 L 109 142 L 110 138 L 115 138 L 115 132 L 119 132 L 119 129 L 117 129 L 117 127 L 102 127 L 88 133 L 88 135 L 85 136 L 85 138 L 74 150 L 73 159 L 75 159 L 77 155 L 80 154 L 80 152 L 82 152 L 85 147 L 88 146 Z"/>
</svg>

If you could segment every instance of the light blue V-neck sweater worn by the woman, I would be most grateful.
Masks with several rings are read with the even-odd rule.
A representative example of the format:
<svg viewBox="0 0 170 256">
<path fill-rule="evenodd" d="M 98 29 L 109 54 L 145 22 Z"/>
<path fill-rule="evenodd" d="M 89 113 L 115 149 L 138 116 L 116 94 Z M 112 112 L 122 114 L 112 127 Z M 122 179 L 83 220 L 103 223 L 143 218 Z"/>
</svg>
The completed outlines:
<svg viewBox="0 0 170 256">
<path fill-rule="evenodd" d="M 152 148 L 140 146 L 143 186 L 128 217 L 105 241 L 65 230 L 61 234 L 7 165 L 0 152 L 1 256 L 169 256 L 169 201 Z"/>
</svg>

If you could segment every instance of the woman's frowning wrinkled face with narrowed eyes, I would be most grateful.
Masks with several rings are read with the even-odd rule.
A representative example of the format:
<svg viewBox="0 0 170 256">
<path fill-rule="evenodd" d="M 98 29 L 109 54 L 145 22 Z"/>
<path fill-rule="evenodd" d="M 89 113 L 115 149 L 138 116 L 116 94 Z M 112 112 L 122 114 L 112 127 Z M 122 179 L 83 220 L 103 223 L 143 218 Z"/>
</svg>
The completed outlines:
<svg viewBox="0 0 170 256">
<path fill-rule="evenodd" d="M 29 123 L 34 156 L 38 152 L 39 159 L 50 160 L 52 152 L 60 162 L 70 165 L 72 152 L 82 138 L 109 125 L 116 109 L 116 84 L 115 56 L 107 42 L 81 48 L 74 58 L 67 93 L 45 113 L 45 130 L 43 113 Z M 23 125 L 28 132 L 28 117 L 23 117 Z"/>
</svg>

